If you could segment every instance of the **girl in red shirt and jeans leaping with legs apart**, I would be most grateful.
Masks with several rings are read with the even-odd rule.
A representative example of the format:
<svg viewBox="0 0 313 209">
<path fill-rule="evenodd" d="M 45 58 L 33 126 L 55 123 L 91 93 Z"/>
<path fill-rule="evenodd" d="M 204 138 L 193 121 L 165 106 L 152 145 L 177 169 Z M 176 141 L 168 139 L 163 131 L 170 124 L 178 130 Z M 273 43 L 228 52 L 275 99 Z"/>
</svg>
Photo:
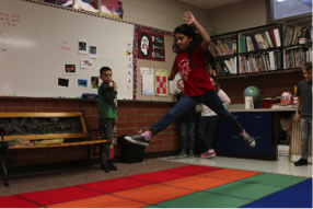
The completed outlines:
<svg viewBox="0 0 313 209">
<path fill-rule="evenodd" d="M 169 80 L 174 80 L 175 74 L 178 71 L 181 72 L 185 86 L 184 96 L 149 130 L 140 136 L 127 136 L 125 140 L 140 146 L 149 146 L 151 137 L 165 129 L 175 118 L 192 106 L 202 103 L 241 135 L 248 147 L 254 148 L 255 139 L 245 132 L 233 115 L 224 108 L 210 81 L 207 68 L 210 65 L 211 68 L 216 69 L 216 61 L 208 50 L 211 43 L 209 34 L 190 12 L 185 12 L 183 20 L 186 21 L 186 24 L 177 26 L 174 31 L 173 51 L 177 55 Z"/>
</svg>

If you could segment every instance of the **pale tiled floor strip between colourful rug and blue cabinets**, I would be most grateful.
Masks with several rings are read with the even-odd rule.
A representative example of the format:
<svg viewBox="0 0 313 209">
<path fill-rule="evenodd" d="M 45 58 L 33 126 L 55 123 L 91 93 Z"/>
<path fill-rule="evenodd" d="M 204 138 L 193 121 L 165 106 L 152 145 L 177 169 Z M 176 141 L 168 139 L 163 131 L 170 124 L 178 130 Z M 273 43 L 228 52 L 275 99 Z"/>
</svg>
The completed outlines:
<svg viewBox="0 0 313 209">
<path fill-rule="evenodd" d="M 161 158 L 160 160 L 188 163 L 194 165 L 236 169 L 245 171 L 273 173 L 273 174 L 302 176 L 302 177 L 313 177 L 312 164 L 308 166 L 294 166 L 293 163 L 285 161 L 259 161 L 259 160 L 246 160 L 246 159 L 222 158 L 222 156 L 215 156 L 212 159 L 205 160 L 200 159 L 199 155 L 196 155 L 194 159 Z"/>
</svg>

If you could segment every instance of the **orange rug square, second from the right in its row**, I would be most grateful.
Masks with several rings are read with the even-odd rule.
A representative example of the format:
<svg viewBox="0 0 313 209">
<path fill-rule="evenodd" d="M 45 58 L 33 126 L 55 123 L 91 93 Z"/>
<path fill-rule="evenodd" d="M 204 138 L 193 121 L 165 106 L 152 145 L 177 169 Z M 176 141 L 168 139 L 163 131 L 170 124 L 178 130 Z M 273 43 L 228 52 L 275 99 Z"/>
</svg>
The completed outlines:
<svg viewBox="0 0 313 209">
<path fill-rule="evenodd" d="M 210 179 L 200 176 L 190 176 L 182 179 L 162 183 L 162 185 L 173 186 L 176 188 L 186 188 L 193 190 L 206 190 L 220 185 L 229 184 L 232 181 L 228 179 Z"/>
</svg>

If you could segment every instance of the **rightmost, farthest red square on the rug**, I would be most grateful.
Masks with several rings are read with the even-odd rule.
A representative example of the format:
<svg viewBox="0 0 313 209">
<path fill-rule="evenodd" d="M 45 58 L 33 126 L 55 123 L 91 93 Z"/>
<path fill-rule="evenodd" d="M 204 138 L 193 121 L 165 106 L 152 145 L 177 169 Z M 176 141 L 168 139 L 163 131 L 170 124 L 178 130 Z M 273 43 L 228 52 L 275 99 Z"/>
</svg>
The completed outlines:
<svg viewBox="0 0 313 209">
<path fill-rule="evenodd" d="M 209 167 L 209 166 L 197 166 L 197 165 L 186 165 L 183 167 L 176 167 L 171 170 L 164 170 L 163 172 L 176 173 L 176 174 L 185 174 L 185 175 L 198 175 L 208 172 L 219 171 L 221 169 L 218 167 Z"/>
</svg>

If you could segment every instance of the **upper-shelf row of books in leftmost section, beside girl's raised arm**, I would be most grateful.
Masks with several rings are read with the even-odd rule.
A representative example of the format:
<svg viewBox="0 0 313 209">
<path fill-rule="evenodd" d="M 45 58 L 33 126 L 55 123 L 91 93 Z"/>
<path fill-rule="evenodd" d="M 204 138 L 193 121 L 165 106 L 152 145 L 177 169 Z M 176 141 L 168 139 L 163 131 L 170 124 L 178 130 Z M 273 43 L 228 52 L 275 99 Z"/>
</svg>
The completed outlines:
<svg viewBox="0 0 313 209">
<path fill-rule="evenodd" d="M 236 54 L 236 39 L 231 42 L 219 39 L 216 43 L 211 42 L 209 50 L 215 57 L 234 55 Z"/>
</svg>

